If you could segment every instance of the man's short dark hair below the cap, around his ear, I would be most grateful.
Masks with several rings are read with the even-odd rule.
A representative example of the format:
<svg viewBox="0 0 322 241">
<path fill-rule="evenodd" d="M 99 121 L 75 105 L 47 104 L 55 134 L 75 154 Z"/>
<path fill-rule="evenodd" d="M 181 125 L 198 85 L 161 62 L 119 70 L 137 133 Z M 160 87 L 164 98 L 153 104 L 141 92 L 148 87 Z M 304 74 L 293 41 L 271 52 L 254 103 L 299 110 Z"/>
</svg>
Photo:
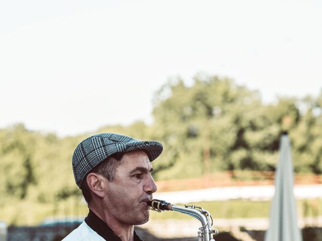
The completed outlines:
<svg viewBox="0 0 322 241">
<path fill-rule="evenodd" d="M 94 167 L 89 173 L 97 173 L 105 177 L 110 182 L 114 180 L 116 168 L 121 164 L 121 159 L 123 157 L 124 153 L 114 153 L 112 156 L 106 158 L 103 162 L 101 162 L 99 165 Z M 84 178 L 82 184 L 81 184 L 81 190 L 83 193 L 83 196 L 87 203 L 89 203 L 92 200 L 92 192 L 90 187 L 87 184 L 87 175 Z"/>
</svg>

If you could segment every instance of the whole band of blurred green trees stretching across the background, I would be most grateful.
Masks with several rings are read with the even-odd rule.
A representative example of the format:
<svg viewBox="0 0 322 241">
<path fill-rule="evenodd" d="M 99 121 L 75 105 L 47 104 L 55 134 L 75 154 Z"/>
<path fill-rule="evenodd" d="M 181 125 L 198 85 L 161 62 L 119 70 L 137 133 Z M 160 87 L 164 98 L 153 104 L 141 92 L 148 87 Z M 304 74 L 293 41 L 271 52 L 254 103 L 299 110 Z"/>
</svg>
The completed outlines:
<svg viewBox="0 0 322 241">
<path fill-rule="evenodd" d="M 274 171 L 283 131 L 292 141 L 295 171 L 322 173 L 322 92 L 303 99 L 279 98 L 268 105 L 257 91 L 229 78 L 197 75 L 191 86 L 180 78 L 165 84 L 153 104 L 152 125 L 139 121 L 96 133 L 162 142 L 164 153 L 152 163 L 156 180 L 221 170 Z M 0 219 L 27 222 L 21 203 L 33 215 L 36 206 L 55 210 L 67 200 L 79 201 L 71 157 L 76 145 L 92 134 L 58 138 L 22 124 L 0 129 Z M 19 208 L 12 208 L 17 203 Z"/>
</svg>

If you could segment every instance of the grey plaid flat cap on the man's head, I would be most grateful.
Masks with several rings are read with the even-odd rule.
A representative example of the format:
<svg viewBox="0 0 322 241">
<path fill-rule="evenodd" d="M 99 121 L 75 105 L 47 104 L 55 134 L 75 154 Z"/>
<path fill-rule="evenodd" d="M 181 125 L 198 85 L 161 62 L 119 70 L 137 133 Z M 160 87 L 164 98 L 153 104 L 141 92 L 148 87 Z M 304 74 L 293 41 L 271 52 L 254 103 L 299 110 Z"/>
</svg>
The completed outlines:
<svg viewBox="0 0 322 241">
<path fill-rule="evenodd" d="M 156 141 L 140 141 L 115 133 L 101 133 L 83 140 L 72 156 L 72 170 L 77 186 L 80 188 L 86 175 L 114 153 L 135 150 L 145 151 L 151 162 L 162 153 L 163 146 Z"/>
</svg>

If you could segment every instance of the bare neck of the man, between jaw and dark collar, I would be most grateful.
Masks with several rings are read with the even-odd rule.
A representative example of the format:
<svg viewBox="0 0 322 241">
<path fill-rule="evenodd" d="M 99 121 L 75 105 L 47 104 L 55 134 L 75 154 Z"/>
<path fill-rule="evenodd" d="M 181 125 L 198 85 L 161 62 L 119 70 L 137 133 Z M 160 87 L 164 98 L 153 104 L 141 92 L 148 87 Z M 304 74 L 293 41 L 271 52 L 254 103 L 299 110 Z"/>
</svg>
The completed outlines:
<svg viewBox="0 0 322 241">
<path fill-rule="evenodd" d="M 122 241 L 133 241 L 133 225 L 120 223 L 117 219 L 112 218 L 110 215 L 105 213 L 104 209 L 101 209 L 102 211 L 98 211 L 96 208 L 93 207 L 90 207 L 90 209 L 96 216 L 102 219 L 112 229 L 114 234 L 117 235 Z"/>
</svg>

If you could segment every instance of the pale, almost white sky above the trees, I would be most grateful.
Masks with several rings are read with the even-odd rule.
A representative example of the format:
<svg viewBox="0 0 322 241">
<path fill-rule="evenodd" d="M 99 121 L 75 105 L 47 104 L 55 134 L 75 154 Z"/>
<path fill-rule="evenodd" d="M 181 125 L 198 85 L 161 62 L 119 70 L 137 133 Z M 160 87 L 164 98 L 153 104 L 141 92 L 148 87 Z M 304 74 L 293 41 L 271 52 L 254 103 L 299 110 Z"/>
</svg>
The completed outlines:
<svg viewBox="0 0 322 241">
<path fill-rule="evenodd" d="M 322 2 L 0 2 L 0 128 L 58 136 L 151 123 L 171 78 L 232 78 L 276 96 L 322 87 Z"/>
</svg>

